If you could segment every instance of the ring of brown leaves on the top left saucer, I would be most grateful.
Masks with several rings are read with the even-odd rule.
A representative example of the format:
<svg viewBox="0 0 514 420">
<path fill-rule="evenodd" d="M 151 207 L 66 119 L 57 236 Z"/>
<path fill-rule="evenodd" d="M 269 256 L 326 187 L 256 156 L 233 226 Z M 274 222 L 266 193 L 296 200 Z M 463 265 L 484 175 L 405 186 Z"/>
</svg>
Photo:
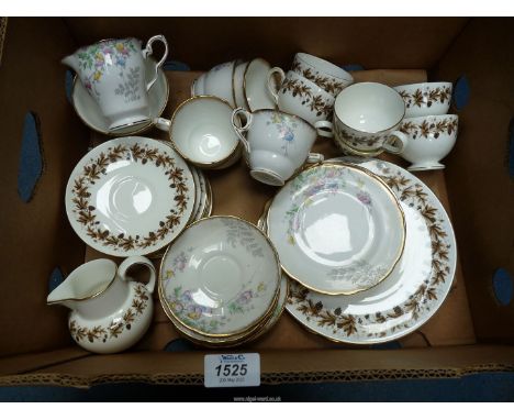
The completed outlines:
<svg viewBox="0 0 514 420">
<path fill-rule="evenodd" d="M 133 159 L 141 164 L 153 164 L 161 167 L 165 175 L 168 176 L 169 187 L 175 190 L 176 207 L 169 211 L 165 220 L 159 221 L 159 228 L 148 232 L 146 236 L 128 235 L 121 233 L 113 235 L 109 230 L 98 228 L 100 223 L 97 221 L 94 206 L 91 206 L 89 199 L 91 194 L 89 188 L 100 179 L 100 176 L 105 174 L 107 167 L 115 162 Z M 132 146 L 116 145 L 109 147 L 108 152 L 101 152 L 97 158 L 83 166 L 81 175 L 75 179 L 71 190 L 74 202 L 74 213 L 78 223 L 85 226 L 86 234 L 93 241 L 101 243 L 103 246 L 110 246 L 115 250 L 131 251 L 136 248 L 147 248 L 154 246 L 166 235 L 172 232 L 174 228 L 180 224 L 180 218 L 188 208 L 188 186 L 183 179 L 183 169 L 175 164 L 175 159 L 166 152 L 159 151 L 157 147 L 148 145 L 141 146 L 134 144 Z"/>
</svg>

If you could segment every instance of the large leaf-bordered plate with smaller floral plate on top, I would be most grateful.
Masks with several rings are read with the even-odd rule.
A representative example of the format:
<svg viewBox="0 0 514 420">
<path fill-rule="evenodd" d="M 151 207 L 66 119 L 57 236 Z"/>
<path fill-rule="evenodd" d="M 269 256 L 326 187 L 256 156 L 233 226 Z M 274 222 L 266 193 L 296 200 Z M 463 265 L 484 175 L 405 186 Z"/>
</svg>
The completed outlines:
<svg viewBox="0 0 514 420">
<path fill-rule="evenodd" d="M 311 167 L 268 202 L 258 225 L 291 277 L 287 310 L 329 340 L 396 340 L 450 290 L 457 256 L 448 215 L 396 165 L 345 157 Z"/>
</svg>

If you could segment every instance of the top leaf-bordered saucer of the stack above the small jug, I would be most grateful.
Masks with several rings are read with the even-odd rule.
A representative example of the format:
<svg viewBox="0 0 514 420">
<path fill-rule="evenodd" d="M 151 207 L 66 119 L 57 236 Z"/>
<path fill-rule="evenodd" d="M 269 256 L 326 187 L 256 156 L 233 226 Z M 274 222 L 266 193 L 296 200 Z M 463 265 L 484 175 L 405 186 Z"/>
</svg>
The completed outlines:
<svg viewBox="0 0 514 420">
<path fill-rule="evenodd" d="M 113 139 L 90 151 L 66 187 L 75 232 L 105 254 L 150 254 L 189 222 L 194 181 L 167 144 L 146 137 Z"/>
</svg>

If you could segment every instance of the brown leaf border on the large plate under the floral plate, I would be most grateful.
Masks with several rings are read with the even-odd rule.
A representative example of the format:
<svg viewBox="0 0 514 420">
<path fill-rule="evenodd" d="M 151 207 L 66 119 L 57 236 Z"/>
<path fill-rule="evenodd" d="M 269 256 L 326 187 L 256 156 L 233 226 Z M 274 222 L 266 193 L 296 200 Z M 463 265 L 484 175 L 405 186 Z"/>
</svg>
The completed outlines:
<svg viewBox="0 0 514 420">
<path fill-rule="evenodd" d="M 325 309 L 321 301 L 311 298 L 311 290 L 295 281 L 290 281 L 290 296 L 288 303 L 294 306 L 294 310 L 301 312 L 309 322 L 315 322 L 317 327 L 331 328 L 334 334 L 343 332 L 345 336 L 362 335 L 366 338 L 386 338 L 399 330 L 409 329 L 412 320 L 420 319 L 422 312 L 432 310 L 432 301 L 444 298 L 443 287 L 450 275 L 449 251 L 450 243 L 443 226 L 443 215 L 436 207 L 431 203 L 428 195 L 421 184 L 405 177 L 400 170 L 391 170 L 389 167 L 381 169 L 378 174 L 388 186 L 395 191 L 399 199 L 410 207 L 415 207 L 425 219 L 432 242 L 432 270 L 431 275 L 422 285 L 403 302 L 389 312 L 367 313 L 365 316 L 353 316 L 343 313 L 342 308 Z M 365 328 L 372 324 L 383 324 L 391 320 L 404 321 L 392 323 L 392 327 L 377 332 L 368 332 Z"/>
</svg>

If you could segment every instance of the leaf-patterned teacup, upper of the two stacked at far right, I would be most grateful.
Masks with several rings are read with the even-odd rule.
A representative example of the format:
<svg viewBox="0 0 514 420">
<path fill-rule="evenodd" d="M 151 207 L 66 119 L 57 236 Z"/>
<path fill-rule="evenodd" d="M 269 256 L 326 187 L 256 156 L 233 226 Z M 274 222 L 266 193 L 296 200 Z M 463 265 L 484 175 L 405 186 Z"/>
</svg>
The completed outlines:
<svg viewBox="0 0 514 420">
<path fill-rule="evenodd" d="M 396 86 L 405 101 L 405 118 L 443 115 L 449 110 L 452 85 L 448 81 Z"/>
</svg>

